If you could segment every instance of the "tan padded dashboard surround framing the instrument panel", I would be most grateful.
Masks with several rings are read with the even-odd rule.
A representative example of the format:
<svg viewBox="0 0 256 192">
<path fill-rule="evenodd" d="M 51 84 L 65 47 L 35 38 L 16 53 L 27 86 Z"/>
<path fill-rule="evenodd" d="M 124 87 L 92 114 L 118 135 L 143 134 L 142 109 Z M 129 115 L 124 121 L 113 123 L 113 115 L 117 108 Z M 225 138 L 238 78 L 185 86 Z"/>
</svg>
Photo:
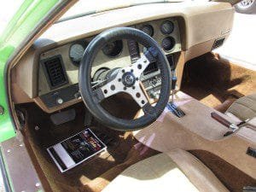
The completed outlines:
<svg viewBox="0 0 256 192">
<path fill-rule="evenodd" d="M 148 12 L 151 9 L 154 9 L 154 11 Z M 131 14 L 135 12 L 139 14 Z M 117 17 L 119 14 L 122 14 L 122 17 Z M 181 52 L 177 64 L 177 86 L 180 87 L 181 79 L 179 77 L 182 77 L 184 62 L 197 55 L 211 51 L 215 39 L 220 37 L 227 38 L 232 28 L 233 17 L 234 8 L 231 7 L 230 3 L 193 2 L 147 4 L 58 22 L 35 41 L 27 54 L 13 68 L 13 73 L 18 74 L 13 85 L 14 94 L 16 90 L 24 90 L 28 98 L 38 98 L 38 91 L 40 91 L 38 85 L 44 83 L 44 81 L 42 82 L 37 78 L 41 70 L 37 66 L 38 58 L 42 53 L 49 51 L 49 49 L 60 48 L 66 44 L 71 44 L 71 42 L 77 42 L 80 39 L 94 38 L 96 34 L 111 27 L 138 26 L 138 23 L 143 24 L 152 22 L 152 20 L 168 20 L 170 18 L 175 18 L 179 27 Z M 109 22 L 104 21 L 106 18 L 108 18 Z M 225 20 L 222 18 L 225 18 Z M 204 48 L 205 45 L 207 46 Z M 128 60 L 125 59 L 125 61 Z M 119 61 L 116 60 L 116 62 Z M 26 70 L 29 70 L 29 72 Z M 29 75 L 24 75 L 26 73 Z M 72 84 L 76 83 L 74 79 L 68 80 Z M 60 88 L 68 85 L 70 84 Z M 44 94 L 44 92 L 41 93 L 41 95 Z M 24 98 L 24 101 L 27 101 L 27 99 Z M 42 108 L 41 105 L 39 106 Z M 49 109 L 48 111 L 52 110 Z"/>
</svg>

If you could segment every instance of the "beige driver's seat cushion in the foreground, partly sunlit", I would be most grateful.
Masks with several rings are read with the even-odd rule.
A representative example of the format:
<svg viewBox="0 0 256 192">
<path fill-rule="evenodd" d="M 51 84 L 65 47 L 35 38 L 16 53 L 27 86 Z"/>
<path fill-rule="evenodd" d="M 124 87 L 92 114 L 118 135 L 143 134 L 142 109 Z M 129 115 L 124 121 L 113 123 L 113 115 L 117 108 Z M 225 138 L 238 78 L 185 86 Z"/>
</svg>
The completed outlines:
<svg viewBox="0 0 256 192">
<path fill-rule="evenodd" d="M 218 178 L 182 149 L 157 154 L 128 167 L 103 192 L 227 192 Z"/>
</svg>

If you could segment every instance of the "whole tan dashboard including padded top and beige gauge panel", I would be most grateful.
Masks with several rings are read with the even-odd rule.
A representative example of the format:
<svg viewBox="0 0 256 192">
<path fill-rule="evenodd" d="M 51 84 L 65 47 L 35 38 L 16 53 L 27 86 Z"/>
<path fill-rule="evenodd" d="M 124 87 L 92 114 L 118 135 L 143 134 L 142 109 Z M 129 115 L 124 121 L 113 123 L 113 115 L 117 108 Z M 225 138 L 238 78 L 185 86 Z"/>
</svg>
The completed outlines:
<svg viewBox="0 0 256 192">
<path fill-rule="evenodd" d="M 166 55 L 172 55 L 175 61 L 178 61 L 177 76 L 180 82 L 185 61 L 211 51 L 218 39 L 224 41 L 224 38 L 228 37 L 233 15 L 234 9 L 229 3 L 157 3 L 116 9 L 56 23 L 38 38 L 12 70 L 14 100 L 16 103 L 37 102 L 49 113 L 79 102 L 79 97 L 75 95 L 79 89 L 79 67 L 71 56 L 73 45 L 85 49 L 86 44 L 99 32 L 115 26 L 130 26 L 143 31 L 145 26 L 150 26 L 149 32 L 153 31 L 152 38 L 160 44 Z M 165 33 L 165 27 L 162 27 L 165 22 L 172 23 L 172 32 Z M 148 32 L 148 29 L 144 32 Z M 163 42 L 166 38 L 172 38 L 172 47 L 167 49 Z M 139 47 L 139 52 L 143 52 L 142 46 Z M 130 64 L 129 45 L 123 40 L 119 54 L 109 56 L 104 51 L 99 52 L 92 76 L 100 68 L 125 67 Z M 58 70 L 63 74 L 61 79 L 57 79 L 61 84 L 52 82 L 49 68 L 45 67 L 48 65 L 61 66 Z M 72 93 L 72 99 L 58 101 L 61 91 Z M 46 95 L 54 95 L 57 104 L 46 105 L 44 100 L 51 98 Z"/>
</svg>

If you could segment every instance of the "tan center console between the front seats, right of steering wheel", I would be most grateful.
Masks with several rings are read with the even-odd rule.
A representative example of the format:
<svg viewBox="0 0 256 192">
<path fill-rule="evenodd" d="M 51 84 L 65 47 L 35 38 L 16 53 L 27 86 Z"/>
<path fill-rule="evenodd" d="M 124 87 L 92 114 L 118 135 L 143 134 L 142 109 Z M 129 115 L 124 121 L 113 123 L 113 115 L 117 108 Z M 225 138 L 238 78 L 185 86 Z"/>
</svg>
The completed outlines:
<svg viewBox="0 0 256 192">
<path fill-rule="evenodd" d="M 255 148 L 255 131 L 244 126 L 224 137 L 230 129 L 212 119 L 211 113 L 218 113 L 224 119 L 233 122 L 229 116 L 205 106 L 182 91 L 177 91 L 174 102 L 186 115 L 177 118 L 173 113 L 165 111 L 152 125 L 133 132 L 137 141 L 160 152 L 183 148 L 212 153 L 247 175 L 256 176 L 252 169 L 255 166 L 255 159 L 247 154 L 250 153 L 247 151 L 248 148 Z"/>
</svg>

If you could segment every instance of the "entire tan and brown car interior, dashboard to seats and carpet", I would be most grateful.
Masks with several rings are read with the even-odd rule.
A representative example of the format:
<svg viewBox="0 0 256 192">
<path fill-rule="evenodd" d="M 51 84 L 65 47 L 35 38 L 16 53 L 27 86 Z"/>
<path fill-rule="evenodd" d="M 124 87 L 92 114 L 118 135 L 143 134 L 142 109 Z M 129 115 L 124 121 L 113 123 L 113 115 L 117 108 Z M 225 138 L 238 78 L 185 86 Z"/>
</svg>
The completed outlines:
<svg viewBox="0 0 256 192">
<path fill-rule="evenodd" d="M 234 13 L 145 3 L 58 20 L 37 38 L 10 93 L 44 190 L 255 191 L 256 72 L 212 52 Z M 106 148 L 70 166 L 52 146 L 86 128 Z"/>
</svg>

